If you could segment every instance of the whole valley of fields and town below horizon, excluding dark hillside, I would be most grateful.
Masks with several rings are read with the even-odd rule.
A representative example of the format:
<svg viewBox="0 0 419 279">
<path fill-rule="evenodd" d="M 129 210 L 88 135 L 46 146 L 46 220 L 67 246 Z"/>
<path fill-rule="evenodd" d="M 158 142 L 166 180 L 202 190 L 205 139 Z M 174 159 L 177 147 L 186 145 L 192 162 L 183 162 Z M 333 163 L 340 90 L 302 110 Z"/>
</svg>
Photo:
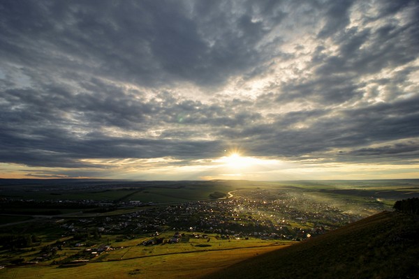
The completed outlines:
<svg viewBox="0 0 419 279">
<path fill-rule="evenodd" d="M 0 274 L 198 278 L 419 196 L 418 180 L 380 182 L 1 181 Z"/>
</svg>

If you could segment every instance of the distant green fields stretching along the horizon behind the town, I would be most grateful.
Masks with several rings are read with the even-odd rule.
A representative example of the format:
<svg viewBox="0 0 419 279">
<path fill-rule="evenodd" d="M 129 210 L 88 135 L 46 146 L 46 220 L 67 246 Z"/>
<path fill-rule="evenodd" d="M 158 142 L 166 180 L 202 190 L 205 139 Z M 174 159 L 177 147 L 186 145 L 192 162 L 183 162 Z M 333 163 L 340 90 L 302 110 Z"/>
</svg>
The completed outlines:
<svg viewBox="0 0 419 279">
<path fill-rule="evenodd" d="M 188 202 L 209 199 L 215 192 L 233 190 L 277 188 L 309 193 L 321 193 L 327 197 L 371 197 L 394 202 L 419 195 L 419 179 L 373 181 L 108 181 L 86 186 L 82 181 L 66 183 L 36 181 L 32 184 L 1 183 L 0 197 L 34 200 L 140 201 L 140 202 Z M 31 180 L 29 180 L 31 181 Z M 47 183 L 48 182 L 48 183 Z"/>
</svg>

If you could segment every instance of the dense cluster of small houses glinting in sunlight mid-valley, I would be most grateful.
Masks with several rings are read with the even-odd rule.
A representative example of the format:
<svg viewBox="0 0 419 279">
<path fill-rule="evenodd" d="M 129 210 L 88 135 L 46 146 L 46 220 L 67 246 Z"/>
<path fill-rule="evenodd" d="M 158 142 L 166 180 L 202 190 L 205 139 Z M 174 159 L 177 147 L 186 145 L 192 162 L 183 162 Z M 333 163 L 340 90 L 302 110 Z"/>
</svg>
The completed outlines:
<svg viewBox="0 0 419 279">
<path fill-rule="evenodd" d="M 240 190 L 228 199 L 154 205 L 119 216 L 83 218 L 61 225 L 68 234 L 96 227 L 127 237 L 165 231 L 220 236 L 305 239 L 360 219 L 337 206 L 284 190 Z"/>
</svg>

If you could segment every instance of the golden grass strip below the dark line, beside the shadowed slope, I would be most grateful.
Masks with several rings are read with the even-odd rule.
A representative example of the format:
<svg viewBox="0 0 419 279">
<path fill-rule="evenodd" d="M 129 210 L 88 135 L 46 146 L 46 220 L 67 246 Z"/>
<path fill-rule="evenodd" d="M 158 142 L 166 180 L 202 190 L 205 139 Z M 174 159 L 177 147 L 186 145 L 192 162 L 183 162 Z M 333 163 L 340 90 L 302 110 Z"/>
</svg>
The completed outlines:
<svg viewBox="0 0 419 279">
<path fill-rule="evenodd" d="M 7 278 L 200 278 L 225 269 L 232 264 L 265 252 L 286 246 L 262 246 L 203 252 L 150 255 L 112 262 L 91 262 L 84 266 L 59 268 L 57 266 L 24 266 L 0 270 Z M 120 250 L 123 251 L 123 250 Z"/>
</svg>

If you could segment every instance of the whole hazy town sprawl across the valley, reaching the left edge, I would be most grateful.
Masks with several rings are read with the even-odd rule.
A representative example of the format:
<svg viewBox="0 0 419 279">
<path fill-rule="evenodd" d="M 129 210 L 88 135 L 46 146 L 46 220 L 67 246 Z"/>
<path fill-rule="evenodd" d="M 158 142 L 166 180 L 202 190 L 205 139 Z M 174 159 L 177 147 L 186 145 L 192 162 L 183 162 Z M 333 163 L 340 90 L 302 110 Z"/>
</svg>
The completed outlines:
<svg viewBox="0 0 419 279">
<path fill-rule="evenodd" d="M 43 201 L 3 199 L 2 204 L 41 204 L 43 213 L 59 212 L 60 207 L 74 207 L 82 212 L 50 216 L 50 223 L 62 234 L 97 231 L 98 234 L 149 234 L 151 232 L 191 231 L 220 235 L 306 239 L 365 217 L 371 211 L 388 209 L 372 202 L 370 211 L 359 212 L 358 204 L 346 210 L 328 202 L 316 201 L 295 190 L 235 190 L 231 197 L 184 203 L 159 204 L 140 201 L 112 202 L 95 200 Z M 346 204 L 347 206 L 347 204 Z M 117 209 L 129 213 L 115 215 Z M 356 210 L 356 211 L 355 211 Z M 366 213 L 367 212 L 367 213 Z"/>
</svg>

